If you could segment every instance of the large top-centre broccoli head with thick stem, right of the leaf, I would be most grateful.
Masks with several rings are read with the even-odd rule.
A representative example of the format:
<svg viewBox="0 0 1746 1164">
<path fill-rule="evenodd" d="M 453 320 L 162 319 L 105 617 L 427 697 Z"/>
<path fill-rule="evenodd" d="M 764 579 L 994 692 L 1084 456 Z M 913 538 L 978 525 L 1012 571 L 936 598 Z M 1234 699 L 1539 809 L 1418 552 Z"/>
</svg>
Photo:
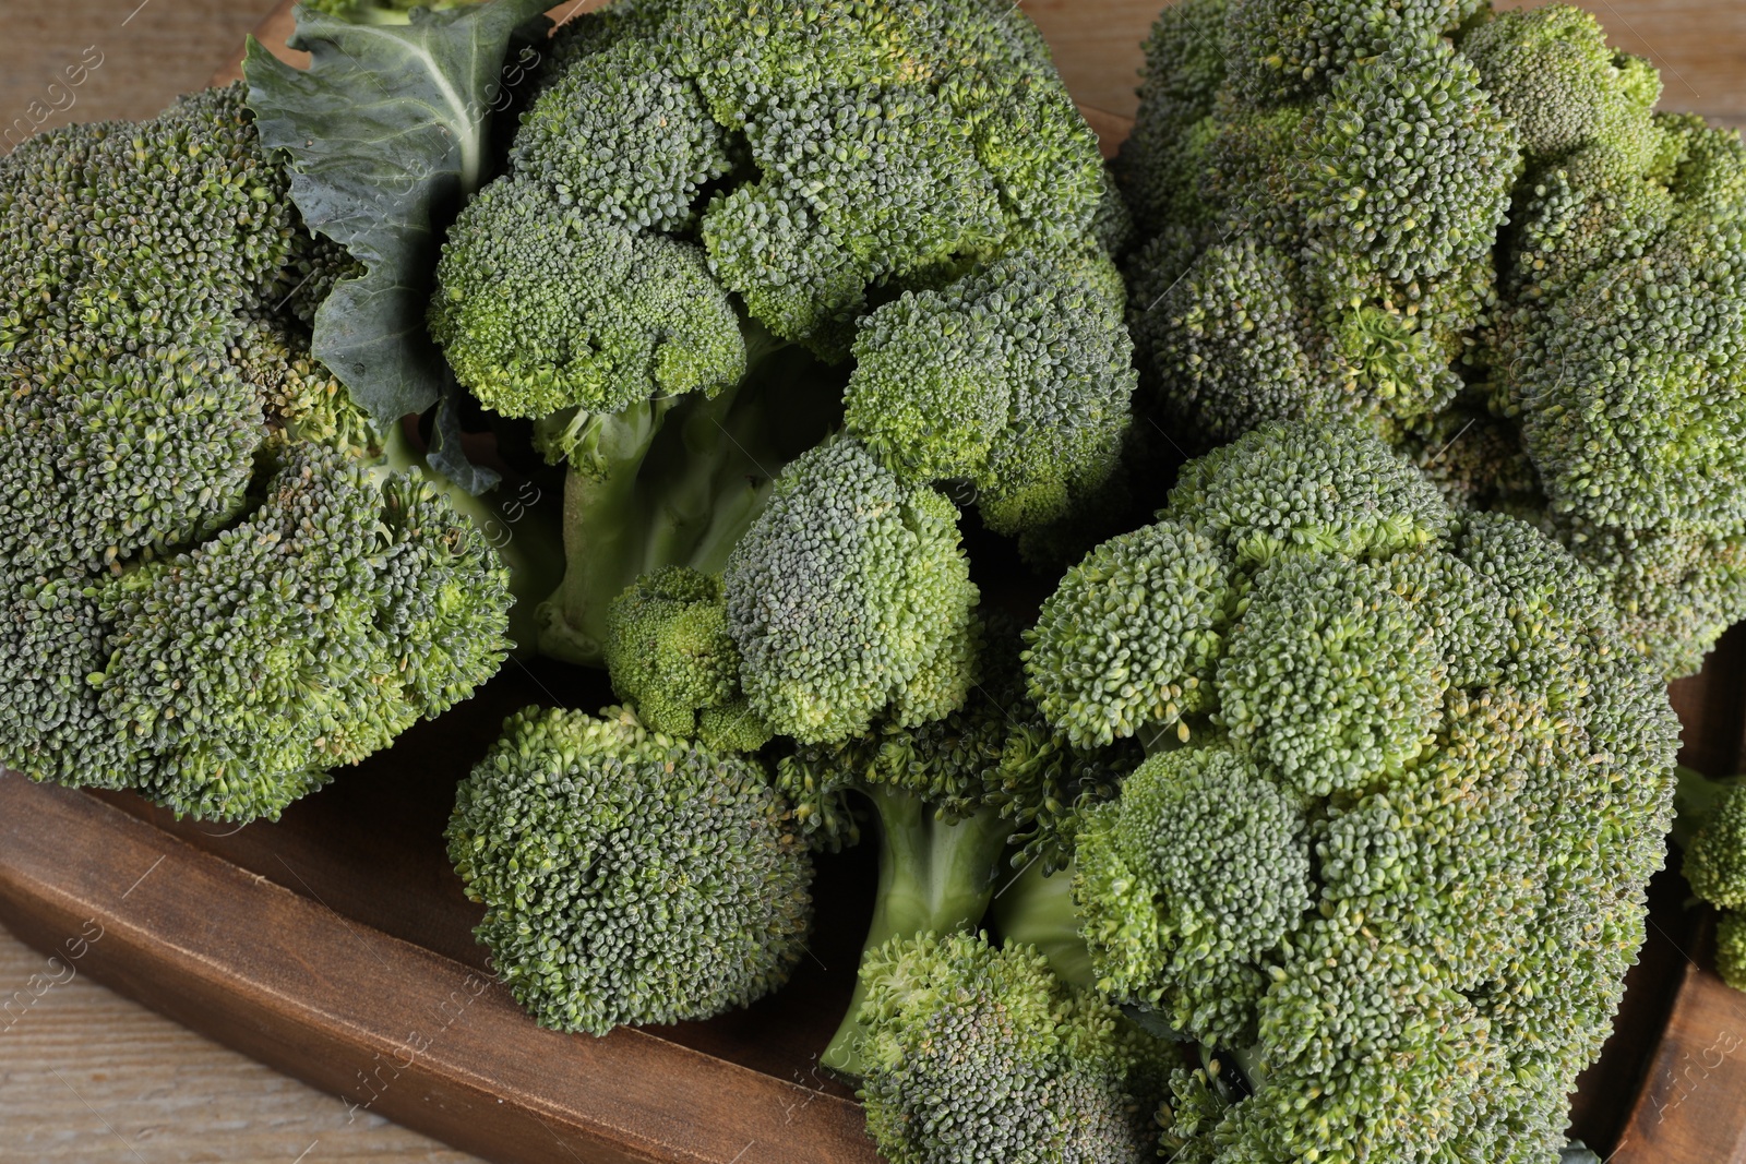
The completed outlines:
<svg viewBox="0 0 1746 1164">
<path fill-rule="evenodd" d="M 541 649 L 601 663 L 625 586 L 719 572 L 782 466 L 843 426 L 850 354 L 850 435 L 906 483 L 969 478 L 1032 557 L 1119 504 L 1133 373 L 1100 244 L 1126 211 L 1014 7 L 616 3 L 559 31 L 536 87 L 449 230 L 430 323 L 461 384 L 567 462 Z M 920 461 L 889 422 L 939 396 L 917 326 L 993 377 L 967 447 Z"/>
</svg>

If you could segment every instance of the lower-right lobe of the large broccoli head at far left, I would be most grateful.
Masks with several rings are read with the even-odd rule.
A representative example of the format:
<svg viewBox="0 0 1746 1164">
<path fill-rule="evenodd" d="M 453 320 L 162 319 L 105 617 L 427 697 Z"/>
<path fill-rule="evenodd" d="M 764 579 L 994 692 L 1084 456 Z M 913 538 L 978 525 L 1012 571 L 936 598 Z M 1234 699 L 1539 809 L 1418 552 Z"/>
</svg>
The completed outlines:
<svg viewBox="0 0 1746 1164">
<path fill-rule="evenodd" d="M 108 660 L 87 682 L 131 787 L 278 817 L 496 674 L 508 576 L 485 534 L 417 473 L 372 478 L 292 447 L 243 522 L 100 585 Z"/>
</svg>

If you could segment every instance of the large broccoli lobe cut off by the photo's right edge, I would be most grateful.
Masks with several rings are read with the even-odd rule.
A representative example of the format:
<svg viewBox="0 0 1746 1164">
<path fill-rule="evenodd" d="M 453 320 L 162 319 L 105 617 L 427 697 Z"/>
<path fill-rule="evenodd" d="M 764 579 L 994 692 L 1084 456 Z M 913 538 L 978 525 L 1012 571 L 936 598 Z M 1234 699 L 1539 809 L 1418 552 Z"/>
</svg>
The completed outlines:
<svg viewBox="0 0 1746 1164">
<path fill-rule="evenodd" d="M 1636 649 L 1681 675 L 1746 614 L 1746 150 L 1690 120 L 1653 133 L 1687 162 L 1657 176 L 1589 145 L 1535 185 L 1488 387 L 1535 464 L 1543 525 L 1605 579 Z"/>
</svg>

